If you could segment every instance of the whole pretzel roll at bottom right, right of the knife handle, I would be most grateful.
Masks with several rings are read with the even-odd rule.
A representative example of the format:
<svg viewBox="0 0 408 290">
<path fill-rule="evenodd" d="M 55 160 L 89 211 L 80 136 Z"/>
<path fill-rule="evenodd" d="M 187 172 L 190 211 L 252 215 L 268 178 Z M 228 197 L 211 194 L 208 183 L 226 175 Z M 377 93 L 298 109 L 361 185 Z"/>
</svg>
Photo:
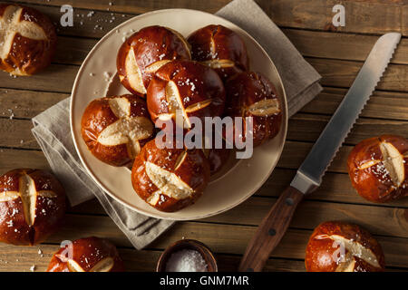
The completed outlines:
<svg viewBox="0 0 408 290">
<path fill-rule="evenodd" d="M 329 221 L 316 227 L 306 247 L 308 272 L 381 272 L 384 254 L 361 227 Z"/>
</svg>

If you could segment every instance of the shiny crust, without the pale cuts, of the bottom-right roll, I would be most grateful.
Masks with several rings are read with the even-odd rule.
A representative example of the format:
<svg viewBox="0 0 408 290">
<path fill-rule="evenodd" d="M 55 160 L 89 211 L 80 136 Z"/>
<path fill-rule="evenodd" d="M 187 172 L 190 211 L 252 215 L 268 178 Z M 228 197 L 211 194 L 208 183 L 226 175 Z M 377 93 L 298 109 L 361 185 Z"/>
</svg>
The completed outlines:
<svg viewBox="0 0 408 290">
<path fill-rule="evenodd" d="M 384 253 L 380 244 L 364 228 L 340 221 L 328 221 L 316 227 L 306 247 L 306 271 L 308 272 L 335 272 L 338 264 L 332 258 L 339 252 L 338 246 L 322 235 L 336 235 L 358 242 L 370 249 L 376 257 L 380 267 L 375 267 L 358 256 L 355 257 L 354 272 L 382 272 L 384 271 Z M 337 251 L 337 252 L 336 252 Z M 345 254 L 347 254 L 345 250 Z"/>
</svg>

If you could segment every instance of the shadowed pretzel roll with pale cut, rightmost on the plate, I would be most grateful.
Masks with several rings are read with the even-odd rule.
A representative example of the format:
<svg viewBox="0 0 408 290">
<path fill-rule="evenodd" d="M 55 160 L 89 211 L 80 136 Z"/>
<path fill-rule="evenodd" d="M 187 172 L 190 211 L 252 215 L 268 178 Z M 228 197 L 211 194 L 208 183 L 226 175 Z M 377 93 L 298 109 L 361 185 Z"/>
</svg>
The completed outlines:
<svg viewBox="0 0 408 290">
<path fill-rule="evenodd" d="M 277 136 L 282 122 L 282 104 L 277 89 L 261 73 L 238 73 L 226 82 L 227 109 L 231 117 L 242 118 L 242 136 L 235 136 L 235 128 L 226 131 L 227 140 L 247 138 L 247 117 L 252 121 L 253 145 L 258 146 Z"/>
</svg>

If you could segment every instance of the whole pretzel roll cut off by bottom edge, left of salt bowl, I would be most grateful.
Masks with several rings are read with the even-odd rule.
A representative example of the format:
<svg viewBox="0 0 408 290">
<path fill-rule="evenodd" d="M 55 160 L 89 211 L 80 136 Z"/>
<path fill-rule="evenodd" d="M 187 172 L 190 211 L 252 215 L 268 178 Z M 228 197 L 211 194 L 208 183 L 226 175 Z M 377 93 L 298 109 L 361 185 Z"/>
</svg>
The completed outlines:
<svg viewBox="0 0 408 290">
<path fill-rule="evenodd" d="M 116 247 L 99 237 L 86 237 L 66 244 L 53 254 L 47 272 L 123 272 Z"/>
</svg>

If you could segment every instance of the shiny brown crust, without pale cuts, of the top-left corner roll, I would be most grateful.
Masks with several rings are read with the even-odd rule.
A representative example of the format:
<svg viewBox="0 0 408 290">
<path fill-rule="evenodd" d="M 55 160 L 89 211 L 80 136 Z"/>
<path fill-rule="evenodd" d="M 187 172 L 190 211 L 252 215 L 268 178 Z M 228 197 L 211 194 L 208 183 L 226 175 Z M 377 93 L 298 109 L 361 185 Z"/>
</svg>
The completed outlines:
<svg viewBox="0 0 408 290">
<path fill-rule="evenodd" d="M 46 35 L 45 40 L 35 40 L 15 34 L 13 45 L 5 59 L 0 59 L 0 69 L 15 75 L 31 75 L 47 67 L 55 53 L 56 32 L 50 19 L 39 11 L 23 5 L 0 4 L 0 17 L 8 6 L 22 7 L 20 21 L 38 24 Z M 1 39 L 0 39 L 1 42 Z"/>
</svg>

